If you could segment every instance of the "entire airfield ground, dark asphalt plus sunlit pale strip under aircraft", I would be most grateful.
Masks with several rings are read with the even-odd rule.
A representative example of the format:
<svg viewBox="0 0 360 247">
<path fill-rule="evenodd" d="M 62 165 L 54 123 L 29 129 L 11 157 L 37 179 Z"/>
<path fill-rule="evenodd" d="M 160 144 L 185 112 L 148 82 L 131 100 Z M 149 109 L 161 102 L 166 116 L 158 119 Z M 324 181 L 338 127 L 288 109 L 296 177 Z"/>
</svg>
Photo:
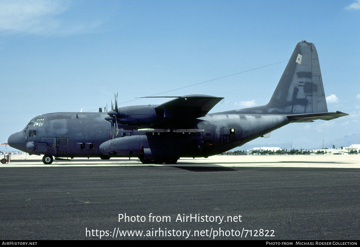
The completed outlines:
<svg viewBox="0 0 360 247">
<path fill-rule="evenodd" d="M 356 155 L 12 161 L 0 239 L 360 238 Z"/>
</svg>

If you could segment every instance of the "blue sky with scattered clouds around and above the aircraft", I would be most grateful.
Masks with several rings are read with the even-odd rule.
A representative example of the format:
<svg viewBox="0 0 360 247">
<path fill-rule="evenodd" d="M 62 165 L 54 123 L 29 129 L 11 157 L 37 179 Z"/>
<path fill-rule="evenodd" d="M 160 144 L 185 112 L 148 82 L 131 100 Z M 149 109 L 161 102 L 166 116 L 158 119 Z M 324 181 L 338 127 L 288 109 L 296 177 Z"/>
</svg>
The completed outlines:
<svg viewBox="0 0 360 247">
<path fill-rule="evenodd" d="M 0 142 L 43 113 L 97 111 L 117 92 L 127 102 L 119 107 L 159 104 L 167 99 L 129 101 L 273 64 L 160 94 L 225 97 L 211 112 L 264 105 L 282 61 L 306 40 L 318 50 L 329 111 L 350 116 L 290 124 L 251 143 L 316 147 L 360 132 L 359 38 L 359 0 L 3 0 Z"/>
</svg>

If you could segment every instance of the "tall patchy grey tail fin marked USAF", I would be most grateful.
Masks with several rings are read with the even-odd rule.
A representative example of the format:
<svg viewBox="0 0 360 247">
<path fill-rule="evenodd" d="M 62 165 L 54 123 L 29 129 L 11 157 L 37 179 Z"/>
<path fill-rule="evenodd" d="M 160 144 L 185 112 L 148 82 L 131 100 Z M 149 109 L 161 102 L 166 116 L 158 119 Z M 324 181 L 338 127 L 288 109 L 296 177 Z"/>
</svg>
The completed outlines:
<svg viewBox="0 0 360 247">
<path fill-rule="evenodd" d="M 328 112 L 318 53 L 314 44 L 299 42 L 280 78 L 266 113 Z"/>
</svg>

